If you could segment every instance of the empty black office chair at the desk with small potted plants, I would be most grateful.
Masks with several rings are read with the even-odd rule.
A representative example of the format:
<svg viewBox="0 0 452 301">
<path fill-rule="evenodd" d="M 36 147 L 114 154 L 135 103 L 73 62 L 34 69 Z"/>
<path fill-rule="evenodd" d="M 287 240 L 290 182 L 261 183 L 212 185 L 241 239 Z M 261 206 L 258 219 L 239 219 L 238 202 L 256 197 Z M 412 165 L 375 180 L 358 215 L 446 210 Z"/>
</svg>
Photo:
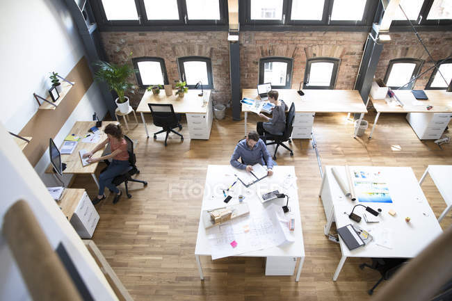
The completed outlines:
<svg viewBox="0 0 452 301">
<path fill-rule="evenodd" d="M 181 141 L 184 141 L 184 136 L 173 129 L 179 127 L 179 130 L 182 129 L 182 125 L 180 124 L 181 115 L 176 114 L 174 108 L 172 108 L 172 104 L 148 104 L 152 113 L 152 120 L 154 120 L 154 124 L 157 127 L 162 127 L 161 131 L 154 133 L 154 139 L 157 138 L 158 133 L 166 132 L 165 138 L 165 146 L 166 140 L 168 140 L 168 134 L 170 132 L 175 133 L 176 135 L 181 136 Z"/>
</svg>

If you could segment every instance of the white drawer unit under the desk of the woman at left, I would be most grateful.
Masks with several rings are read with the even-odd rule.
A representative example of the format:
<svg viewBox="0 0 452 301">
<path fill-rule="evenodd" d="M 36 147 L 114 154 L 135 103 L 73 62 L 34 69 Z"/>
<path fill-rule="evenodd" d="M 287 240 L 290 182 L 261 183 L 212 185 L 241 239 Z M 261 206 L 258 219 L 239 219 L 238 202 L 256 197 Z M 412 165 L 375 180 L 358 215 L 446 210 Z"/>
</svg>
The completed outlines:
<svg viewBox="0 0 452 301">
<path fill-rule="evenodd" d="M 81 238 L 91 238 L 97 222 L 99 222 L 99 213 L 97 213 L 90 197 L 85 192 L 76 206 L 70 223 Z"/>
</svg>

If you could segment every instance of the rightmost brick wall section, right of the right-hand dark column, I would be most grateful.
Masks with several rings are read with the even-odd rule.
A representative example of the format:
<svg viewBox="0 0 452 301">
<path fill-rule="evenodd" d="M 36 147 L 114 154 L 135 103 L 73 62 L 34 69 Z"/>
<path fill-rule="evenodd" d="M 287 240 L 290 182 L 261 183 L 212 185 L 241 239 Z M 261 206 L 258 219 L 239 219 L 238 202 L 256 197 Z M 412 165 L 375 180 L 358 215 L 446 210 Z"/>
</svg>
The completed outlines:
<svg viewBox="0 0 452 301">
<path fill-rule="evenodd" d="M 452 31 L 420 31 L 419 36 L 434 60 L 440 60 L 452 54 Z M 414 35 L 414 32 L 394 32 L 391 33 L 391 38 L 391 42 L 383 46 L 376 77 L 384 79 L 389 60 L 394 58 L 421 58 L 425 60 L 420 73 L 433 67 L 433 63 L 430 63 L 428 54 L 423 49 L 416 35 Z M 419 77 L 414 84 L 414 88 L 425 88 L 432 72 L 433 70 L 430 70 Z"/>
</svg>

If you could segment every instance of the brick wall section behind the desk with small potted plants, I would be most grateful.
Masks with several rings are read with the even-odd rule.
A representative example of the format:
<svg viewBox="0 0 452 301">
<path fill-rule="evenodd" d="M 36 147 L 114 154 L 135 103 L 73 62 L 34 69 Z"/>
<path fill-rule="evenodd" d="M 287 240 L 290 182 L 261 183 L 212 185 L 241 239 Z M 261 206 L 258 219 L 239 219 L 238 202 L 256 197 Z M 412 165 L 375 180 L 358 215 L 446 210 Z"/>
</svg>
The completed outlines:
<svg viewBox="0 0 452 301">
<path fill-rule="evenodd" d="M 214 101 L 227 102 L 231 98 L 229 80 L 229 44 L 227 32 L 103 32 L 102 42 L 109 61 L 124 63 L 132 57 L 158 56 L 165 60 L 168 81 L 179 80 L 177 58 L 181 56 L 207 56 L 212 60 Z M 136 82 L 136 77 L 132 79 Z M 136 106 L 143 97 L 143 90 L 131 95 Z"/>
</svg>

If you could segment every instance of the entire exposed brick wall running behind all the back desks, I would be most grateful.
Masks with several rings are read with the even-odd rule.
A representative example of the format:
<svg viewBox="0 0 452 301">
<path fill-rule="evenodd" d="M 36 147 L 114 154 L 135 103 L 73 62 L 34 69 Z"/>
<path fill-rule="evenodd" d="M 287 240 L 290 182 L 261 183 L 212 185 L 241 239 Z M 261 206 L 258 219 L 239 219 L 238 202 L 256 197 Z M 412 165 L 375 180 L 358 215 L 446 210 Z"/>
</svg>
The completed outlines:
<svg viewBox="0 0 452 301">
<path fill-rule="evenodd" d="M 452 31 L 420 32 L 423 42 L 435 60 L 452 53 Z M 124 63 L 132 51 L 134 57 L 159 56 L 165 59 L 168 79 L 179 79 L 176 58 L 180 56 L 207 56 L 212 60 L 214 91 L 218 103 L 231 98 L 229 79 L 229 45 L 227 33 L 201 32 L 103 32 L 102 42 L 108 60 Z M 268 32 L 242 31 L 240 35 L 241 88 L 255 88 L 258 81 L 259 58 L 285 56 L 293 58 L 292 88 L 298 89 L 305 74 L 307 58 L 332 56 L 341 59 L 337 89 L 353 89 L 367 33 L 364 32 Z M 433 66 L 412 32 L 392 33 L 392 42 L 385 44 L 376 72 L 383 78 L 392 58 L 413 57 L 426 60 L 422 72 Z M 130 60 L 129 60 L 130 63 Z M 425 87 L 431 72 L 417 80 L 416 88 Z M 136 82 L 134 77 L 133 79 Z M 138 105 L 143 91 L 131 97 Z"/>
</svg>

